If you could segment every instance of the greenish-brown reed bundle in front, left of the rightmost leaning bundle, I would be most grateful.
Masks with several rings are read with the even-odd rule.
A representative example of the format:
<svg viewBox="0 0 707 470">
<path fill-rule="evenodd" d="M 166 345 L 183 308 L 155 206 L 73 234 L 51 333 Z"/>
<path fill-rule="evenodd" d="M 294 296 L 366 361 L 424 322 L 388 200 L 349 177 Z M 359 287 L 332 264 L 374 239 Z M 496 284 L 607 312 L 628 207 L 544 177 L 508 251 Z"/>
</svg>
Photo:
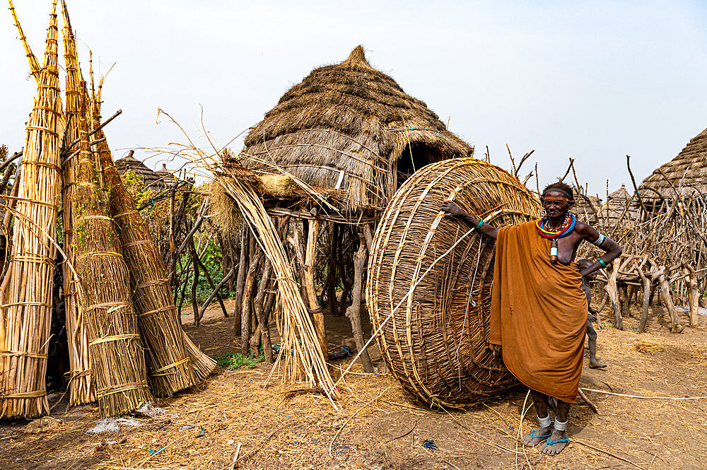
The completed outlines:
<svg viewBox="0 0 707 470">
<path fill-rule="evenodd" d="M 105 194 L 95 183 L 95 155 L 90 151 L 86 97 L 80 91 L 79 151 L 67 165 L 75 165 L 72 192 L 72 243 L 79 296 L 88 330 L 95 394 L 101 416 L 116 416 L 148 403 L 145 356 L 132 302 L 130 280 L 113 220 L 107 215 Z M 76 161 L 78 159 L 78 161 Z M 68 209 L 68 208 L 67 208 Z"/>
</svg>

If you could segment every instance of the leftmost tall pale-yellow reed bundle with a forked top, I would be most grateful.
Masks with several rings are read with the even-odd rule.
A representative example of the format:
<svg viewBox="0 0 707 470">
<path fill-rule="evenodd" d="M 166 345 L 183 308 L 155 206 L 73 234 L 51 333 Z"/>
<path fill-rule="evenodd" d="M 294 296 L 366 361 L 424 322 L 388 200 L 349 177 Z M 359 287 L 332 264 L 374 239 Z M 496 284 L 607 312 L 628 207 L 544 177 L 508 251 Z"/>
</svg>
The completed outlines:
<svg viewBox="0 0 707 470">
<path fill-rule="evenodd" d="M 10 8 L 37 80 L 37 98 L 25 136 L 9 266 L 0 287 L 0 418 L 33 418 L 49 412 L 45 374 L 64 114 L 57 64 L 57 1 L 52 6 L 41 69 L 19 28 L 11 1 Z"/>
</svg>

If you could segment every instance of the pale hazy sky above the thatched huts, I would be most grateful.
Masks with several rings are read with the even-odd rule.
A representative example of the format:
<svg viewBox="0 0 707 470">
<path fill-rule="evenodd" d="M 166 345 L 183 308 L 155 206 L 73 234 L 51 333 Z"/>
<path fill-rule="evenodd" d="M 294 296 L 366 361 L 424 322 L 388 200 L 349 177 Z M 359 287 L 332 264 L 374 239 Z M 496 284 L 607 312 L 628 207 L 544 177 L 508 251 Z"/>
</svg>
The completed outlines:
<svg viewBox="0 0 707 470">
<path fill-rule="evenodd" d="M 603 199 L 607 179 L 612 190 L 630 186 L 626 154 L 640 182 L 707 127 L 707 7 L 698 1 L 67 4 L 84 71 L 88 47 L 102 71 L 115 63 L 103 115 L 123 110 L 106 128 L 118 158 L 185 141 L 166 119 L 156 122 L 158 107 L 192 136 L 203 107 L 207 129 L 226 143 L 313 68 L 346 59 L 358 44 L 373 66 L 449 119 L 477 156 L 488 145 L 491 163 L 509 168 L 506 143 L 516 158 L 534 148 L 521 173 L 537 161 L 541 185 L 572 157 L 580 181 Z M 15 6 L 40 57 L 51 1 Z M 0 143 L 13 152 L 36 88 L 6 8 L 0 52 Z"/>
</svg>

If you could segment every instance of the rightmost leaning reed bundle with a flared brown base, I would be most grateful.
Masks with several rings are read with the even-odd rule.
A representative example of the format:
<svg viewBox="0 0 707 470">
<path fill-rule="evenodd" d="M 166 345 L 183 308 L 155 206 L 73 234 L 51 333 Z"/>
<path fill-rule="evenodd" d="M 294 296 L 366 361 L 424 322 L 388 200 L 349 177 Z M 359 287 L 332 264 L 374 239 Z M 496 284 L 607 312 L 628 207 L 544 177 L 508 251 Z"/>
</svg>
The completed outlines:
<svg viewBox="0 0 707 470">
<path fill-rule="evenodd" d="M 100 124 L 101 89 L 99 84 L 93 97 L 94 127 Z M 94 138 L 99 141 L 95 152 L 108 191 L 110 213 L 117 224 L 122 253 L 130 271 L 132 301 L 147 347 L 151 390 L 156 396 L 172 396 L 206 380 L 216 368 L 216 362 L 199 351 L 182 330 L 160 250 L 120 180 L 103 129 L 99 129 Z"/>
</svg>

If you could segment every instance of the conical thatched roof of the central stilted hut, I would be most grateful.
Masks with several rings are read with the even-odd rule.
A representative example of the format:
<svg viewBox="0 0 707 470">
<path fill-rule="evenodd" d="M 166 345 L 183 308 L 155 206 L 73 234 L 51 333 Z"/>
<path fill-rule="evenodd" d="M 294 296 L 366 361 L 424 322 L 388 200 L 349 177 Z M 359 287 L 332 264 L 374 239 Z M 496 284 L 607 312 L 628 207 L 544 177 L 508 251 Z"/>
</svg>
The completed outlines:
<svg viewBox="0 0 707 470">
<path fill-rule="evenodd" d="M 280 98 L 246 137 L 251 158 L 244 161 L 251 168 L 257 160 L 274 161 L 313 187 L 342 189 L 343 209 L 382 209 L 398 171 L 471 151 L 424 102 L 374 69 L 358 46 Z"/>
</svg>

